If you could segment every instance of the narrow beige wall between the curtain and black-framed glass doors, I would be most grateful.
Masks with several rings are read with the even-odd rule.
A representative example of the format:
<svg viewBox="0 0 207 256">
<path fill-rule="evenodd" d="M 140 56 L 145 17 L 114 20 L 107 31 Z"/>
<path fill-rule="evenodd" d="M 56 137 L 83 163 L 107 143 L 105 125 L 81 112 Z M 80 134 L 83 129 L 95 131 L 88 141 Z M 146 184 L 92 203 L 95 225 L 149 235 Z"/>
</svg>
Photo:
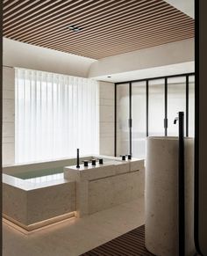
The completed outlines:
<svg viewBox="0 0 207 256">
<path fill-rule="evenodd" d="M 114 156 L 114 84 L 100 82 L 100 154 Z"/>
</svg>

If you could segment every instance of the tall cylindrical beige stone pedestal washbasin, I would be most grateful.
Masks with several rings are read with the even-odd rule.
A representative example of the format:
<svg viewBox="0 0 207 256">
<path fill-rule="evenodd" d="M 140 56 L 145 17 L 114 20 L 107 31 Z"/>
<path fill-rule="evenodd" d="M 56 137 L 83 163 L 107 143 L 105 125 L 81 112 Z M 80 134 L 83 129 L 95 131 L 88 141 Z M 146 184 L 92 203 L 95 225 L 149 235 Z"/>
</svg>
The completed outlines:
<svg viewBox="0 0 207 256">
<path fill-rule="evenodd" d="M 185 138 L 186 256 L 195 254 L 193 144 Z M 145 212 L 146 249 L 158 256 L 178 255 L 178 137 L 146 140 Z"/>
</svg>

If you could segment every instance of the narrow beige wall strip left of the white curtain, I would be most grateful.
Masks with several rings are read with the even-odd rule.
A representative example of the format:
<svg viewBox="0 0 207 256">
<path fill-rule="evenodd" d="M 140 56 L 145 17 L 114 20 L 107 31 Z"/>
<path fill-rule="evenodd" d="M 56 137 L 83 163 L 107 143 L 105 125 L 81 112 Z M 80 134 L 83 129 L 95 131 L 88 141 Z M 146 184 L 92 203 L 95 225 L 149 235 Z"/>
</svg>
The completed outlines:
<svg viewBox="0 0 207 256">
<path fill-rule="evenodd" d="M 14 163 L 14 69 L 3 68 L 3 165 Z"/>
</svg>

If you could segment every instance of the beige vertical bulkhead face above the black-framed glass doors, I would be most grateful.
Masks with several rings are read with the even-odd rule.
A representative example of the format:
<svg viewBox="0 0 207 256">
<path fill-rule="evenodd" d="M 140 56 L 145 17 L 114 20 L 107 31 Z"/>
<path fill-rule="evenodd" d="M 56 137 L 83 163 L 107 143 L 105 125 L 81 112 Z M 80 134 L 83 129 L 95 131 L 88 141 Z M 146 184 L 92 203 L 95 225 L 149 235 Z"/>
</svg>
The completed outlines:
<svg viewBox="0 0 207 256">
<path fill-rule="evenodd" d="M 194 60 L 194 39 L 180 40 L 100 59 L 91 64 L 89 77 L 102 77 L 133 70 L 193 62 Z"/>
</svg>

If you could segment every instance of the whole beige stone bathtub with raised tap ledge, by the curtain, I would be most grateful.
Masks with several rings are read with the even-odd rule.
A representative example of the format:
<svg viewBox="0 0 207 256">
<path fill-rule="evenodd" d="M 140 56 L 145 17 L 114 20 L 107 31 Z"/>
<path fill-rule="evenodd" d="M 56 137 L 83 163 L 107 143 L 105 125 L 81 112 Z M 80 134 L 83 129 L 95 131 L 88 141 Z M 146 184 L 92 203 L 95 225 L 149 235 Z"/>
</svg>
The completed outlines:
<svg viewBox="0 0 207 256">
<path fill-rule="evenodd" d="M 144 194 L 144 160 L 103 158 L 103 165 L 77 169 L 76 159 L 4 166 L 3 216 L 31 231 L 69 217 L 82 217 Z"/>
</svg>

